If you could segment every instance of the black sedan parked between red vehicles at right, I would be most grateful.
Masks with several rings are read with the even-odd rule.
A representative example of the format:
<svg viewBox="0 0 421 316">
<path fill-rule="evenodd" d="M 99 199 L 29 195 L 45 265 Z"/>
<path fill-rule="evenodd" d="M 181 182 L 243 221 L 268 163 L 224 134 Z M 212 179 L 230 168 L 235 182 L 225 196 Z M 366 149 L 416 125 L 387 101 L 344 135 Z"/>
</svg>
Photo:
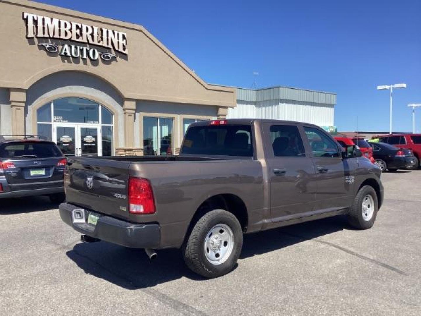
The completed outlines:
<svg viewBox="0 0 421 316">
<path fill-rule="evenodd" d="M 375 163 L 380 167 L 381 171 L 386 169 L 396 171 L 397 169 L 410 169 L 416 164 L 416 158 L 405 154 L 405 150 L 399 149 L 383 142 L 370 142 L 373 147 L 373 157 Z"/>
</svg>

